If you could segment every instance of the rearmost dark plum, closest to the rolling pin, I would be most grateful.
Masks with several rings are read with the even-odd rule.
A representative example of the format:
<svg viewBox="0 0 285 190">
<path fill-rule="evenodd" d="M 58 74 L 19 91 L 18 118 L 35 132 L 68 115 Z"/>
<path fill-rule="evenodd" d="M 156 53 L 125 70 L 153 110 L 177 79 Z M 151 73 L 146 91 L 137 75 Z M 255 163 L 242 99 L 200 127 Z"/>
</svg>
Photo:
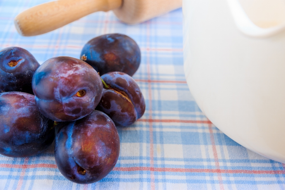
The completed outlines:
<svg viewBox="0 0 285 190">
<path fill-rule="evenodd" d="M 140 48 L 124 34 L 105 34 L 89 40 L 80 59 L 90 64 L 100 76 L 120 71 L 132 76 L 140 66 Z"/>
</svg>

